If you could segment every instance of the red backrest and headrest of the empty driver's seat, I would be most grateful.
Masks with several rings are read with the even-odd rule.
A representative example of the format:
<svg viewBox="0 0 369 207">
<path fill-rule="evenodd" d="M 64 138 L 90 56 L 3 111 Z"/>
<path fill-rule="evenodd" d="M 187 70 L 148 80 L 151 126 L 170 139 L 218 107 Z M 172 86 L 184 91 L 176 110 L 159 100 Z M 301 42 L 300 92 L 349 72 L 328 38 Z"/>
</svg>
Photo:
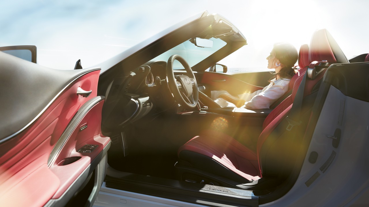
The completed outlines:
<svg viewBox="0 0 369 207">
<path fill-rule="evenodd" d="M 309 49 L 309 62 L 323 60 L 328 60 L 330 64 L 348 63 L 346 56 L 326 29 L 315 31 Z M 313 88 L 323 76 L 324 73 L 320 73 L 314 80 L 306 80 L 304 96 L 311 94 Z M 285 120 L 292 108 L 292 103 L 303 77 L 301 75 L 297 77 L 292 94 L 280 103 L 264 121 L 264 129 L 257 144 L 257 155 L 262 176 L 280 175 L 290 165 L 287 160 L 295 156 L 293 146 L 295 146 L 294 141 L 296 142 L 297 139 L 283 136 L 283 131 L 285 131 L 288 123 L 282 121 Z"/>
</svg>

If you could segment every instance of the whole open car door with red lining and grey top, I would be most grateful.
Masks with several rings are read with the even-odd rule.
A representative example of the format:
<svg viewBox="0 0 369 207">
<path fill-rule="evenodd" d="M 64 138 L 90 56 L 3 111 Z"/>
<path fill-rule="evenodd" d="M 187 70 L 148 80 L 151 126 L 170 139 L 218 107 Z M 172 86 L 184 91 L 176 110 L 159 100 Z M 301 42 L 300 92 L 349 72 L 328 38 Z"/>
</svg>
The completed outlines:
<svg viewBox="0 0 369 207">
<path fill-rule="evenodd" d="M 91 206 L 111 143 L 101 134 L 100 68 L 54 70 L 3 52 L 0 62 L 1 205 L 64 206 L 90 186 Z"/>
</svg>

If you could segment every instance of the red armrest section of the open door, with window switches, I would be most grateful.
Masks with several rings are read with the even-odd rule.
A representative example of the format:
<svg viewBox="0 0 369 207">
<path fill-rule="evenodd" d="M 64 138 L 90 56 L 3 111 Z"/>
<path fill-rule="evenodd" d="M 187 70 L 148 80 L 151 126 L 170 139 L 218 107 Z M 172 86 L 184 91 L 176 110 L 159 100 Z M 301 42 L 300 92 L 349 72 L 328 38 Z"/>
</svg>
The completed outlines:
<svg viewBox="0 0 369 207">
<path fill-rule="evenodd" d="M 101 109 L 104 101 L 99 100 L 100 97 L 97 98 L 97 104 L 92 103 L 92 108 L 85 115 L 82 115 L 82 119 L 78 120 L 76 124 L 72 124 L 74 125 L 72 133 L 66 137 L 65 144 L 63 144 L 59 153 L 55 155 L 55 158 L 51 159 L 52 162 L 49 169 L 61 181 L 61 185 L 54 194 L 53 199 L 58 199 L 65 193 L 68 187 L 72 185 L 110 141 L 110 138 L 101 134 Z M 87 127 L 84 128 L 83 126 Z M 86 144 L 97 145 L 97 147 L 92 152 L 78 152 Z"/>
</svg>

